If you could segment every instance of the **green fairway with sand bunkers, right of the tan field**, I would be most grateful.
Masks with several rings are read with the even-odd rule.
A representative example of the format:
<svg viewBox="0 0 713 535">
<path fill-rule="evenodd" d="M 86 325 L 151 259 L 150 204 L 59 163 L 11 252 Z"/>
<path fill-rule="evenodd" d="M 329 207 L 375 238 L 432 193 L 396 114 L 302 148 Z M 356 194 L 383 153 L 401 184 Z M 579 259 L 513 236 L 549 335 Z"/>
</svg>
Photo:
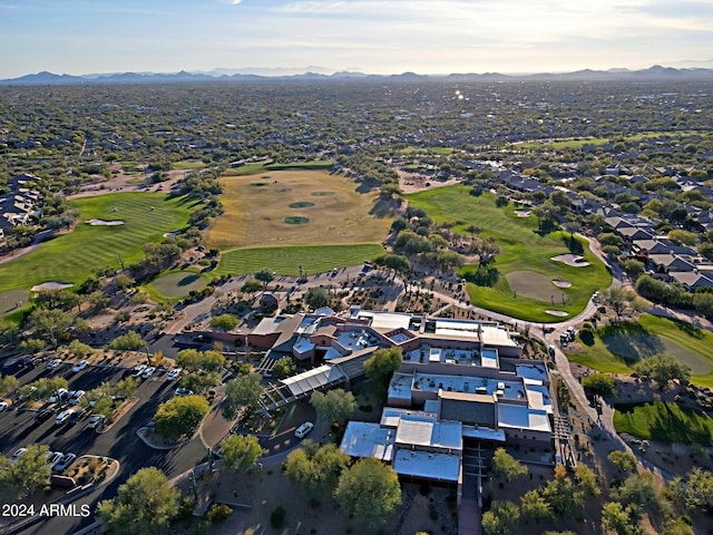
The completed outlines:
<svg viewBox="0 0 713 535">
<path fill-rule="evenodd" d="M 423 208 L 437 222 L 455 222 L 453 230 L 467 234 L 469 225 L 482 230 L 482 237 L 495 236 L 502 250 L 491 268 L 499 274 L 491 285 L 468 284 L 470 302 L 476 307 L 500 312 L 521 320 L 537 322 L 561 321 L 561 317 L 548 314 L 547 310 L 567 312 L 574 317 L 586 307 L 592 293 L 607 288 L 612 276 L 597 257 L 589 252 L 585 241 L 578 241 L 578 253 L 590 265 L 575 268 L 550 260 L 553 256 L 569 253 L 566 242 L 569 234 L 554 232 L 545 236 L 537 234 L 535 217 L 518 217 L 516 206 L 495 205 L 496 196 L 484 193 L 479 197 L 469 195 L 468 186 L 446 186 L 438 189 L 407 195 L 409 204 Z M 476 280 L 477 265 L 467 265 L 460 275 L 469 281 Z M 516 293 L 508 284 L 507 275 L 514 272 L 529 272 L 548 281 L 560 280 L 572 283 L 569 288 L 551 284 L 549 292 L 537 296 Z M 487 282 L 487 281 L 486 281 Z M 516 289 L 517 290 L 517 289 Z M 563 303 L 564 301 L 564 303 Z"/>
</svg>

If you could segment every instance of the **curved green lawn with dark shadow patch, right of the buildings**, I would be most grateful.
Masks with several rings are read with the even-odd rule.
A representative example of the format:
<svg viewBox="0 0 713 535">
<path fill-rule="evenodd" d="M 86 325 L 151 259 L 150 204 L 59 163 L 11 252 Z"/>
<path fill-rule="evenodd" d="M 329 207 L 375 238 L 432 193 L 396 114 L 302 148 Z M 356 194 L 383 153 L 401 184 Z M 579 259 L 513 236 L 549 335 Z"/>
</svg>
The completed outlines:
<svg viewBox="0 0 713 535">
<path fill-rule="evenodd" d="M 691 368 L 691 381 L 713 386 L 713 333 L 691 323 L 643 314 L 638 322 L 604 325 L 594 346 L 568 351 L 572 362 L 612 373 L 629 373 L 637 360 L 666 353 Z"/>
</svg>

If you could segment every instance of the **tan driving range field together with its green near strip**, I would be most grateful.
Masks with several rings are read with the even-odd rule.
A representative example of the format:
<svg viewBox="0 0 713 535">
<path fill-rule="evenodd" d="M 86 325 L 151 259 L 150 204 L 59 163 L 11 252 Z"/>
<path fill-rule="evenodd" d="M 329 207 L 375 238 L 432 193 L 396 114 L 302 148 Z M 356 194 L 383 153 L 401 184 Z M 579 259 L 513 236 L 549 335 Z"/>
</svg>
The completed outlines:
<svg viewBox="0 0 713 535">
<path fill-rule="evenodd" d="M 206 245 L 222 252 L 216 274 L 270 269 L 296 275 L 354 265 L 381 252 L 391 217 L 378 195 L 324 171 L 267 171 L 221 178 L 224 213 Z"/>
</svg>

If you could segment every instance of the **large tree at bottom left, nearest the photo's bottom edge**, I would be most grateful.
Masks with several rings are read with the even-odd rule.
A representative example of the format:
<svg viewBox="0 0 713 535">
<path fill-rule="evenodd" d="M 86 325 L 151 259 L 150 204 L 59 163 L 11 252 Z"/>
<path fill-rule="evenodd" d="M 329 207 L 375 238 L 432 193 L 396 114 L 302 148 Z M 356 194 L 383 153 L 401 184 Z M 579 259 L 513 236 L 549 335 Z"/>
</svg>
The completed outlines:
<svg viewBox="0 0 713 535">
<path fill-rule="evenodd" d="M 178 514 L 178 490 L 156 467 L 141 468 L 119 486 L 114 499 L 97 506 L 97 519 L 110 534 L 159 533 Z"/>
</svg>

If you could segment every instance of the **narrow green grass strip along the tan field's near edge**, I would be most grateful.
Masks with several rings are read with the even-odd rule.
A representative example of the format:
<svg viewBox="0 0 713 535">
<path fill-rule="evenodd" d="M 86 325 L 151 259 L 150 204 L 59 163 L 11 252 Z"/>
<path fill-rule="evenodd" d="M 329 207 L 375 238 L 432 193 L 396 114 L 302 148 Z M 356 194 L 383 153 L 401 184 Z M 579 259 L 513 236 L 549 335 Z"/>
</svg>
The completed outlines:
<svg viewBox="0 0 713 535">
<path fill-rule="evenodd" d="M 382 253 L 383 247 L 374 243 L 236 249 L 223 254 L 213 273 L 240 275 L 267 269 L 281 275 L 299 275 L 301 265 L 307 274 L 315 274 L 356 265 Z"/>
</svg>

